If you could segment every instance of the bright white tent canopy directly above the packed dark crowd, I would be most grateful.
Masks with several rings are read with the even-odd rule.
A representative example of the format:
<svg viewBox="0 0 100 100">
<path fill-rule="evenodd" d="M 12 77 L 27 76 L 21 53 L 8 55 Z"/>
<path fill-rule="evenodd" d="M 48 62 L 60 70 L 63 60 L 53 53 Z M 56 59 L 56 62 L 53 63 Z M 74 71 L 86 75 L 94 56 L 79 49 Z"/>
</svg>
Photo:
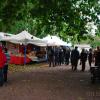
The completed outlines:
<svg viewBox="0 0 100 100">
<path fill-rule="evenodd" d="M 66 42 L 64 42 L 57 36 L 48 35 L 48 36 L 44 37 L 43 40 L 47 41 L 48 46 L 71 46 L 71 43 L 67 44 Z"/>
</svg>

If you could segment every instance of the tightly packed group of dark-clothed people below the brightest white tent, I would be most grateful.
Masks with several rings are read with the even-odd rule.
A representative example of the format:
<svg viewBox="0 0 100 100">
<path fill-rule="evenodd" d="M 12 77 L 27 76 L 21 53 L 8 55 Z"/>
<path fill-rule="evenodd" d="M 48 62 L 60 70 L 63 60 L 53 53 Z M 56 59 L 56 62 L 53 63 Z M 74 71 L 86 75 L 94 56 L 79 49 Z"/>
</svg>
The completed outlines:
<svg viewBox="0 0 100 100">
<path fill-rule="evenodd" d="M 48 47 L 47 49 L 49 67 L 69 64 L 70 49 L 62 47 Z"/>
</svg>

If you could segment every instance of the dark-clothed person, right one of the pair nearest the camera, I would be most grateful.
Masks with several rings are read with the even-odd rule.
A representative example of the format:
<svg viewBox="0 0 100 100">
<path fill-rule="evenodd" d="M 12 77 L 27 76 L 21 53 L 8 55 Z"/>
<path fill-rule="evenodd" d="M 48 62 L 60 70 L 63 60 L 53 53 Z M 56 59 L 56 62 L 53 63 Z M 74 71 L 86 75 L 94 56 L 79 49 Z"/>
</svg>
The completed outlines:
<svg viewBox="0 0 100 100">
<path fill-rule="evenodd" d="M 82 49 L 82 52 L 80 54 L 80 60 L 81 60 L 81 63 L 82 63 L 82 71 L 84 71 L 86 60 L 87 60 L 87 53 L 86 53 L 85 49 Z"/>
</svg>

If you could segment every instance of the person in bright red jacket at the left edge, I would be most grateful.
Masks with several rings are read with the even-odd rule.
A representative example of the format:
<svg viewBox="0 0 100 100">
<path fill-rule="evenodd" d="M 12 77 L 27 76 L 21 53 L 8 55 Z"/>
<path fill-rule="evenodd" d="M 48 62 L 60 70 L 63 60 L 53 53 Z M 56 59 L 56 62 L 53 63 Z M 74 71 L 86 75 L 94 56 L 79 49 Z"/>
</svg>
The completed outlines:
<svg viewBox="0 0 100 100">
<path fill-rule="evenodd" d="M 6 55 L 2 51 L 2 47 L 0 47 L 0 86 L 3 86 L 4 78 L 3 78 L 3 68 L 6 63 Z"/>
</svg>

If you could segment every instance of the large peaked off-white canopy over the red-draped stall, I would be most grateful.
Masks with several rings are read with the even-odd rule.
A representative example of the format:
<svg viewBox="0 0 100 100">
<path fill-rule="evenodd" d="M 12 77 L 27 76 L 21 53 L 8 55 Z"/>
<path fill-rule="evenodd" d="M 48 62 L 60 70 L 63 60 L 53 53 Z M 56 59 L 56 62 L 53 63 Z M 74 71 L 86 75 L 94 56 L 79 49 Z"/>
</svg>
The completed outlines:
<svg viewBox="0 0 100 100">
<path fill-rule="evenodd" d="M 46 46 L 46 42 L 31 35 L 27 31 L 22 31 L 21 33 L 17 35 L 12 35 L 8 38 L 3 38 L 4 41 L 9 41 L 16 44 L 24 44 L 27 45 L 29 43 L 38 45 L 38 46 Z"/>
</svg>

